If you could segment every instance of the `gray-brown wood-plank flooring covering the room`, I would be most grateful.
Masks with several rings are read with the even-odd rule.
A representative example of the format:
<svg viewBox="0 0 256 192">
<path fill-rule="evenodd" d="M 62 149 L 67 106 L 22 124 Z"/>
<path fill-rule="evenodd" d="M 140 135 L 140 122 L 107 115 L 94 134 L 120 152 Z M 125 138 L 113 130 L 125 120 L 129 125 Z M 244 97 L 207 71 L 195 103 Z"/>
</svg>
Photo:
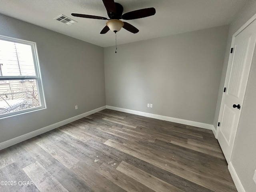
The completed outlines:
<svg viewBox="0 0 256 192">
<path fill-rule="evenodd" d="M 109 109 L 1 150 L 0 181 L 0 192 L 237 191 L 211 130 Z"/>
</svg>

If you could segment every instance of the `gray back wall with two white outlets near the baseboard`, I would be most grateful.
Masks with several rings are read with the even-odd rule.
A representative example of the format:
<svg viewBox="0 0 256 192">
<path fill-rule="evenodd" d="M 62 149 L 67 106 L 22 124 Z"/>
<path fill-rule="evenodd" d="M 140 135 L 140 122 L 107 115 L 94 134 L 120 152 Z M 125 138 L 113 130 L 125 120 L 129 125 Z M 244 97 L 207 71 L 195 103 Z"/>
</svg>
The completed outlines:
<svg viewBox="0 0 256 192">
<path fill-rule="evenodd" d="M 106 104 L 212 124 L 228 26 L 104 48 Z M 147 108 L 152 103 L 153 108 Z"/>
</svg>

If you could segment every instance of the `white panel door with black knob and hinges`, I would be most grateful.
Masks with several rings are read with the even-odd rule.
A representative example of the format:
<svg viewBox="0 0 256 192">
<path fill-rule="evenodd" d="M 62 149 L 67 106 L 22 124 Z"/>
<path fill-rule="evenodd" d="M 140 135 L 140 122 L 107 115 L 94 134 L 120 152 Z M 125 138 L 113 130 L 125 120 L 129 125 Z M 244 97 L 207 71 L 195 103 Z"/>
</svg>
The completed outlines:
<svg viewBox="0 0 256 192">
<path fill-rule="evenodd" d="M 220 126 L 217 129 L 217 139 L 227 162 L 230 162 L 240 113 L 243 107 L 255 42 L 256 21 L 234 36 L 232 40 L 233 53 L 230 53 L 228 61 L 225 80 L 226 92 L 222 96 L 219 116 Z M 241 106 L 240 109 L 237 107 L 238 104 Z"/>
</svg>

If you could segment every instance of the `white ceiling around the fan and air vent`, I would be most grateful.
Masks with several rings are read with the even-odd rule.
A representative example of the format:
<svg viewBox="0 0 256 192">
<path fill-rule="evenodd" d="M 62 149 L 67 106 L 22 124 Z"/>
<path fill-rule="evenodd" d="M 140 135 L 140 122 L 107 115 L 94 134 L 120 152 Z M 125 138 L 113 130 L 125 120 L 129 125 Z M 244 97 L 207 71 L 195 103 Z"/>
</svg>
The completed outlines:
<svg viewBox="0 0 256 192">
<path fill-rule="evenodd" d="M 154 7 L 156 14 L 127 20 L 140 30 L 117 33 L 118 44 L 168 36 L 229 24 L 248 0 L 115 0 L 124 12 Z M 102 0 L 0 0 L 0 13 L 44 28 L 107 47 L 115 44 L 114 32 L 100 34 L 106 20 L 78 18 L 71 13 L 107 17 Z M 78 23 L 71 26 L 54 20 L 64 14 Z"/>
</svg>

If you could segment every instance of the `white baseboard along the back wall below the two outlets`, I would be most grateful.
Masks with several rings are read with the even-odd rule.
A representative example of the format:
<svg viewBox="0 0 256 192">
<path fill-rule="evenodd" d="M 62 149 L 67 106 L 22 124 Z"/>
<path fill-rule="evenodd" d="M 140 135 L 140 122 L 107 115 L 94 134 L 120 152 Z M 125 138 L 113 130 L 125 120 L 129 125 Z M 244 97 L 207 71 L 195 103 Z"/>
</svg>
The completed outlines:
<svg viewBox="0 0 256 192">
<path fill-rule="evenodd" d="M 154 118 L 154 119 L 170 121 L 170 122 L 174 122 L 174 123 L 180 123 L 180 124 L 185 124 L 185 125 L 210 129 L 210 130 L 214 129 L 213 125 L 206 124 L 206 123 L 194 122 L 194 121 L 190 121 L 190 120 L 184 120 L 184 119 L 178 119 L 178 118 L 173 118 L 173 117 L 168 117 L 168 116 L 145 113 L 145 112 L 140 112 L 140 111 L 135 111 L 135 110 L 130 110 L 130 109 L 124 109 L 124 108 L 119 108 L 119 107 L 113 107 L 113 106 L 108 106 L 108 105 L 106 106 L 106 108 L 116 110 L 116 111 L 136 114 L 136 115 L 140 115 L 140 116 L 150 117 L 150 118 Z"/>
</svg>

